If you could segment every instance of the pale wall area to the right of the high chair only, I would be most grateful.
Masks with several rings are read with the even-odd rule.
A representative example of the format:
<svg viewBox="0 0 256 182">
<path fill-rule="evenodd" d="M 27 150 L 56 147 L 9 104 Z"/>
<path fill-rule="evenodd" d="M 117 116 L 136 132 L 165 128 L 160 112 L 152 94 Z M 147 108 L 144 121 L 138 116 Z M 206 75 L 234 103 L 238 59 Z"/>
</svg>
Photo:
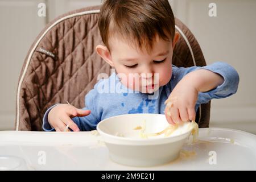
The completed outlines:
<svg viewBox="0 0 256 182">
<path fill-rule="evenodd" d="M 216 3 L 217 16 L 208 15 Z M 205 60 L 225 61 L 240 75 L 237 94 L 212 101 L 210 127 L 229 127 L 256 134 L 256 1 L 172 1 L 175 15 L 196 36 Z"/>
</svg>

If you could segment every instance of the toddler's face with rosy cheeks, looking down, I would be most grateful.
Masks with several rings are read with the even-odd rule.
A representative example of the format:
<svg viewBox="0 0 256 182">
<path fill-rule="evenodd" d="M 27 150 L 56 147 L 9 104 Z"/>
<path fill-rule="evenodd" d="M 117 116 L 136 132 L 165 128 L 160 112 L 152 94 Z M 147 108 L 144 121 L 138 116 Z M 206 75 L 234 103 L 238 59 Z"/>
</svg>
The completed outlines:
<svg viewBox="0 0 256 182">
<path fill-rule="evenodd" d="M 174 41 L 176 43 L 176 39 Z M 152 93 L 166 85 L 172 76 L 172 52 L 175 45 L 156 36 L 152 50 L 140 50 L 125 40 L 113 36 L 109 40 L 111 54 L 101 57 L 107 61 L 127 88 L 142 93 Z M 120 76 L 119 76 L 120 77 Z"/>
</svg>

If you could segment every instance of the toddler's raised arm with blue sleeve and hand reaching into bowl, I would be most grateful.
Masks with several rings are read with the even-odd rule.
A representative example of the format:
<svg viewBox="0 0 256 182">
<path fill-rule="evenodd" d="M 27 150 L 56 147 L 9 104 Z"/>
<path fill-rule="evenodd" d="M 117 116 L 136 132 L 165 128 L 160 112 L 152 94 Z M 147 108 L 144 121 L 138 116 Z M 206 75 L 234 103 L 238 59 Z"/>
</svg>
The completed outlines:
<svg viewBox="0 0 256 182">
<path fill-rule="evenodd" d="M 226 63 L 214 63 L 205 67 L 174 68 L 172 90 L 166 101 L 167 121 L 195 120 L 195 105 L 207 103 L 213 98 L 225 98 L 236 93 L 239 76 Z M 176 80 L 175 80 L 176 79 Z"/>
</svg>

